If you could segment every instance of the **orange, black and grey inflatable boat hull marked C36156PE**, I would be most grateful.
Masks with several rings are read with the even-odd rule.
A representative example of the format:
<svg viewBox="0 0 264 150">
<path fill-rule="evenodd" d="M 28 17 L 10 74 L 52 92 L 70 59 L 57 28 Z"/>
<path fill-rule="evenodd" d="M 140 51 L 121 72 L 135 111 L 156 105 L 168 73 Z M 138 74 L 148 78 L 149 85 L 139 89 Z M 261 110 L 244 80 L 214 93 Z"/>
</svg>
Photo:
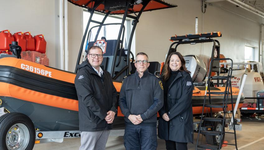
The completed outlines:
<svg viewBox="0 0 264 150">
<path fill-rule="evenodd" d="M 8 64 L 8 65 L 7 65 Z M 0 99 L 10 112 L 23 113 L 42 131 L 78 130 L 78 98 L 74 86 L 75 73 L 46 67 L 23 59 L 0 59 Z M 122 82 L 114 81 L 117 92 Z M 225 87 L 210 87 L 224 91 Z M 232 88 L 236 102 L 239 90 Z M 192 96 L 193 115 L 202 112 L 205 87 L 195 87 Z M 223 104 L 224 95 L 211 95 L 212 104 Z M 242 106 L 244 97 L 241 97 Z M 206 100 L 208 102 L 208 100 Z M 228 104 L 231 102 L 229 101 Z M 231 110 L 229 105 L 228 110 Z M 205 109 L 205 112 L 210 109 Z M 222 109 L 213 108 L 212 112 Z M 117 116 L 123 117 L 118 107 Z"/>
</svg>

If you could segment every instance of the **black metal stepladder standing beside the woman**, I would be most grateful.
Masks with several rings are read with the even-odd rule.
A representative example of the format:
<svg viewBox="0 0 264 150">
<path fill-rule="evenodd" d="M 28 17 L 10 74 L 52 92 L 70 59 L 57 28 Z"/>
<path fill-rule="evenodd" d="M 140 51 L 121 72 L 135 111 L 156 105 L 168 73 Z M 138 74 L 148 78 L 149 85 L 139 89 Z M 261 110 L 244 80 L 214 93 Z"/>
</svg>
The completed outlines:
<svg viewBox="0 0 264 150">
<path fill-rule="evenodd" d="M 212 68 L 213 68 L 213 62 L 214 61 L 221 61 L 221 60 L 228 60 L 231 61 L 231 66 L 228 69 L 227 76 L 211 76 Z M 208 79 L 206 82 L 205 87 L 205 97 L 204 97 L 204 103 L 202 108 L 202 114 L 201 114 L 201 120 L 200 120 L 200 127 L 197 135 L 197 142 L 196 142 L 196 150 L 220 150 L 222 148 L 222 145 L 224 143 L 224 135 L 225 134 L 233 134 L 234 135 L 234 144 L 233 143 L 224 143 L 226 145 L 233 145 L 237 149 L 237 140 L 236 140 L 236 129 L 235 129 L 235 122 L 231 121 L 230 127 L 233 129 L 233 132 L 225 132 L 225 125 L 227 122 L 227 118 L 231 118 L 234 113 L 232 113 L 232 116 L 228 113 L 228 105 L 231 101 L 231 111 L 234 110 L 234 104 L 233 104 L 233 95 L 232 95 L 232 87 L 231 87 L 231 78 L 232 78 L 232 69 L 233 67 L 233 60 L 229 58 L 224 59 L 212 59 L 210 61 L 210 67 L 209 67 L 209 73 L 208 73 Z M 224 91 L 213 91 L 210 90 L 210 85 L 212 86 L 212 80 L 224 80 L 225 81 L 225 90 Z M 221 105 L 215 105 L 211 102 L 211 96 L 221 95 L 223 96 L 223 101 Z M 223 117 L 214 117 L 212 114 L 212 108 L 219 108 L 223 112 Z M 210 111 L 209 111 L 210 110 Z M 230 110 L 230 109 L 229 109 Z M 210 113 L 208 113 L 210 112 Z M 211 127 L 211 128 L 208 128 Z M 213 130 L 206 130 L 206 129 L 213 129 Z M 199 141 L 199 139 L 203 139 L 203 136 L 215 136 L 216 138 L 213 141 L 209 141 L 210 144 L 202 144 L 202 140 Z M 208 141 L 207 141 L 208 143 Z"/>
</svg>

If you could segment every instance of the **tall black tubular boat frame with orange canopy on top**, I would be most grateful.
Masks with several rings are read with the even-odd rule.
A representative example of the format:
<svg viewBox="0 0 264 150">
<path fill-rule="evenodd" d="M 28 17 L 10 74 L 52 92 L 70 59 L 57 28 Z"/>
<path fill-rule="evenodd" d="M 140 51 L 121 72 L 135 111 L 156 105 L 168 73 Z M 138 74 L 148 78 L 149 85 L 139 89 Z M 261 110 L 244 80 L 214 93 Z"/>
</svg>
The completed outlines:
<svg viewBox="0 0 264 150">
<path fill-rule="evenodd" d="M 125 71 L 126 75 L 129 75 L 129 67 L 128 66 L 130 63 L 129 60 L 130 60 L 130 49 L 131 49 L 132 39 L 133 39 L 133 35 L 134 35 L 136 25 L 139 22 L 139 18 L 141 16 L 142 12 L 177 7 L 177 5 L 169 4 L 169 3 L 164 2 L 162 0 L 140 0 L 140 1 L 139 0 L 86 0 L 86 1 L 85 0 L 82 0 L 82 1 L 68 0 L 68 2 L 73 3 L 74 5 L 83 7 L 83 8 L 87 8 L 88 12 L 90 12 L 90 14 L 91 14 L 89 17 L 89 20 L 87 22 L 87 26 L 86 26 L 86 29 L 84 31 L 83 38 L 82 38 L 82 43 L 81 43 L 81 47 L 79 50 L 75 71 L 74 71 L 75 73 L 78 72 L 77 65 L 80 63 L 80 59 L 82 56 L 82 50 L 83 50 L 83 46 L 85 43 L 85 38 L 87 36 L 88 28 L 89 28 L 91 22 L 99 24 L 97 26 L 99 28 L 97 30 L 97 34 L 96 34 L 96 38 L 95 38 L 95 39 L 97 39 L 99 31 L 101 30 L 101 26 L 107 25 L 107 24 L 104 24 L 104 22 L 109 15 L 123 14 L 122 22 L 121 22 L 121 24 L 119 23 L 120 24 L 120 30 L 119 30 L 119 34 L 117 37 L 117 41 L 120 41 L 120 38 L 122 35 L 122 30 L 125 31 L 124 23 L 125 23 L 126 17 L 133 19 L 133 21 L 132 21 L 133 28 L 132 28 L 131 33 L 130 33 L 130 38 L 129 38 L 128 47 L 127 47 L 128 49 L 127 49 L 127 56 L 126 56 L 127 57 L 126 58 L 126 60 L 127 60 L 126 66 L 120 70 L 123 72 Z M 105 16 L 101 22 L 92 20 L 92 16 L 93 16 L 95 11 L 105 14 Z M 138 14 L 136 14 L 136 13 L 138 13 Z M 130 14 L 134 14 L 134 16 L 130 15 Z M 123 31 L 122 42 L 124 39 L 124 31 Z M 91 31 L 89 31 L 89 32 L 91 32 Z M 89 38 L 87 38 L 87 44 L 88 44 L 88 42 L 89 42 Z M 86 44 L 85 52 L 84 52 L 85 55 L 87 54 L 87 49 L 88 49 L 87 44 Z M 112 62 L 110 62 L 110 63 L 112 63 L 111 77 L 113 77 L 113 75 L 114 75 L 114 70 L 115 70 L 114 68 L 117 67 L 120 63 L 120 60 L 116 60 L 118 48 L 120 46 L 119 44 L 120 44 L 120 42 L 116 42 L 115 51 L 114 51 L 114 58 L 113 58 Z M 121 43 L 121 45 L 122 45 L 122 43 Z M 122 49 L 122 47 L 121 47 L 121 49 Z M 84 59 L 85 59 L 85 57 L 86 56 L 84 56 Z M 117 62 L 117 64 L 116 64 L 116 62 Z M 117 75 L 120 75 L 120 74 L 121 73 L 116 74 L 115 78 L 117 78 Z"/>
</svg>

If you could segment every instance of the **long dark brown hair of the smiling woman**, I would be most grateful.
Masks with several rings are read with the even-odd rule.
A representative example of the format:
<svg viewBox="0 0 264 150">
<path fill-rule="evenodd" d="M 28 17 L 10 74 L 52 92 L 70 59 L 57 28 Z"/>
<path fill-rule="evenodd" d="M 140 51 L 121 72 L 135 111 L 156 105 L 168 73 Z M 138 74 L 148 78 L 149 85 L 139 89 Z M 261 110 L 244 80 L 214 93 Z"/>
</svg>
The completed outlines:
<svg viewBox="0 0 264 150">
<path fill-rule="evenodd" d="M 184 60 L 182 54 L 179 53 L 179 52 L 173 52 L 173 53 L 171 53 L 171 54 L 168 56 L 168 59 L 166 60 L 166 62 L 165 62 L 165 64 L 164 64 L 164 66 L 165 66 L 165 68 L 164 68 L 165 71 L 164 71 L 164 73 L 163 73 L 163 80 L 164 80 L 164 81 L 167 81 L 167 80 L 169 79 L 169 77 L 170 77 L 171 68 L 170 68 L 170 65 L 169 65 L 169 64 L 170 64 L 170 60 L 171 60 L 172 55 L 177 55 L 177 56 L 179 57 L 179 59 L 181 60 L 181 64 L 182 64 L 182 66 L 181 66 L 181 68 L 179 69 L 180 72 L 186 71 L 187 73 L 191 73 L 191 72 L 190 72 L 189 70 L 187 70 L 187 68 L 185 67 L 185 60 Z"/>
</svg>

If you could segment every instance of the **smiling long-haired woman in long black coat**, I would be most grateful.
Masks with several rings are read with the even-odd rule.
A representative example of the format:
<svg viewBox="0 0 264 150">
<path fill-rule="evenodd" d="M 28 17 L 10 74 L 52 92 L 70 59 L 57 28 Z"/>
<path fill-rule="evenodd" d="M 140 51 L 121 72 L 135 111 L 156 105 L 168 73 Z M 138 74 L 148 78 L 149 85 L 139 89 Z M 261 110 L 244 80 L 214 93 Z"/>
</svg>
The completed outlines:
<svg viewBox="0 0 264 150">
<path fill-rule="evenodd" d="M 164 66 L 164 105 L 159 111 L 162 117 L 158 120 L 158 137 L 165 140 L 167 150 L 187 150 L 187 143 L 193 143 L 190 71 L 179 52 L 171 53 Z"/>
</svg>

